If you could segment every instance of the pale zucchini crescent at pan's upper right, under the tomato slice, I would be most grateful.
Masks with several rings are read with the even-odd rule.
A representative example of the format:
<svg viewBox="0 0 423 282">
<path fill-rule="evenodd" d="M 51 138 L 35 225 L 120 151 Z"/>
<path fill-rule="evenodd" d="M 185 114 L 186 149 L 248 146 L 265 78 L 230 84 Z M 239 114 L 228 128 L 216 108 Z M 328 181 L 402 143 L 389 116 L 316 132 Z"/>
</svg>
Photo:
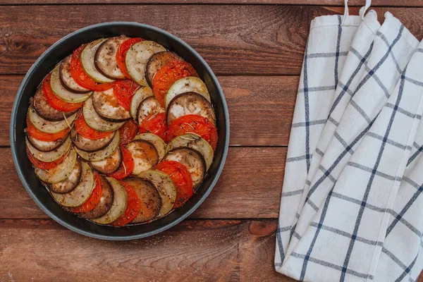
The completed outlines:
<svg viewBox="0 0 423 282">
<path fill-rule="evenodd" d="M 186 92 L 195 92 L 200 94 L 202 97 L 206 98 L 209 103 L 212 103 L 209 90 L 207 90 L 207 86 L 204 82 L 195 76 L 188 76 L 188 78 L 176 80 L 176 82 L 169 88 L 168 92 L 164 96 L 164 107 L 167 109 L 168 104 L 173 98 Z"/>
</svg>

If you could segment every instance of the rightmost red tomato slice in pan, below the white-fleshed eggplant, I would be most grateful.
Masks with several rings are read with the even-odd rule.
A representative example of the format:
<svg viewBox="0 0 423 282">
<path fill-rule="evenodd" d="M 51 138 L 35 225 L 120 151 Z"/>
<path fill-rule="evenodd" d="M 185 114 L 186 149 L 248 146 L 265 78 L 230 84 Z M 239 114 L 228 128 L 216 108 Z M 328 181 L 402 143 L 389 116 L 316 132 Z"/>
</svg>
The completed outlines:
<svg viewBox="0 0 423 282">
<path fill-rule="evenodd" d="M 174 137 L 185 133 L 200 135 L 204 140 L 209 142 L 213 149 L 216 149 L 217 130 L 207 118 L 197 115 L 186 115 L 177 118 L 168 130 L 167 140 L 171 141 Z"/>
</svg>

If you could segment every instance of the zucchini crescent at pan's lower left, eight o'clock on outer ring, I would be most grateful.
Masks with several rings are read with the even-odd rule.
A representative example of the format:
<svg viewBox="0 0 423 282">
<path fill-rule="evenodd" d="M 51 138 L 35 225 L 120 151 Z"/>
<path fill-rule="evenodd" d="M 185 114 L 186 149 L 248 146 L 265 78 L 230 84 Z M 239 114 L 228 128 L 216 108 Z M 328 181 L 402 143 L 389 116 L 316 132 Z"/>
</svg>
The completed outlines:
<svg viewBox="0 0 423 282">
<path fill-rule="evenodd" d="M 35 174 L 45 183 L 59 183 L 71 176 L 77 158 L 75 150 L 71 149 L 60 164 L 50 169 L 35 167 Z"/>
</svg>

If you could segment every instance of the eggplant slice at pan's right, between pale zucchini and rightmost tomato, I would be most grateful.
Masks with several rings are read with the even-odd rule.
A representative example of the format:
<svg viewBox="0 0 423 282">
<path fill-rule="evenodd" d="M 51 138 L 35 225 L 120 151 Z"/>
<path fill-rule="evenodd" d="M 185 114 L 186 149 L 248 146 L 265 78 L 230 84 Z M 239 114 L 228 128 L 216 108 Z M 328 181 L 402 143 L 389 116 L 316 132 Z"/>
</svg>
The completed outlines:
<svg viewBox="0 0 423 282">
<path fill-rule="evenodd" d="M 208 118 L 214 125 L 216 125 L 216 116 L 214 115 L 212 104 L 207 101 L 202 95 L 195 92 L 187 92 L 179 94 L 169 103 L 167 109 L 167 124 L 170 126 L 176 118 L 195 114 Z"/>
</svg>

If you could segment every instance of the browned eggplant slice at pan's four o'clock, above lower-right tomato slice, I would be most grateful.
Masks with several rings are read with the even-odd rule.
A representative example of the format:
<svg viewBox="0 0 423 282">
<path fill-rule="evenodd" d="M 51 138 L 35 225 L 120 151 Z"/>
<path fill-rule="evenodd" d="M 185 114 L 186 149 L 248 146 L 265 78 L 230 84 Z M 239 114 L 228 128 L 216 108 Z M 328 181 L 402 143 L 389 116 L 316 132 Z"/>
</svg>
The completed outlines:
<svg viewBox="0 0 423 282">
<path fill-rule="evenodd" d="M 202 155 L 195 149 L 180 147 L 169 151 L 164 161 L 179 161 L 188 168 L 192 177 L 192 188 L 197 188 L 206 174 L 206 163 Z"/>
</svg>

